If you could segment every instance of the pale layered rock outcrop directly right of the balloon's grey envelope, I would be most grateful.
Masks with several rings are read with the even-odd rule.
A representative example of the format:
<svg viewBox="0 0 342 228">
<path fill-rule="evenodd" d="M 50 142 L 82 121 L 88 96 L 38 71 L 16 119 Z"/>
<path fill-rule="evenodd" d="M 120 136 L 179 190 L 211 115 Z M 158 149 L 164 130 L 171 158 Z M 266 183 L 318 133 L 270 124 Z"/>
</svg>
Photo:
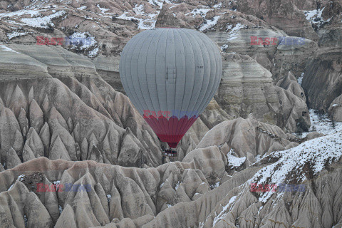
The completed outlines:
<svg viewBox="0 0 342 228">
<path fill-rule="evenodd" d="M 253 58 L 239 53 L 224 53 L 223 57 L 224 71 L 215 99 L 229 115 L 247 118 L 253 113 L 257 120 L 278 125 L 289 133 L 296 131 L 299 118 L 310 125 L 298 83 L 292 83 L 294 88 L 288 88 L 290 81 L 278 84 L 284 88 L 275 86 L 271 73 Z"/>
</svg>

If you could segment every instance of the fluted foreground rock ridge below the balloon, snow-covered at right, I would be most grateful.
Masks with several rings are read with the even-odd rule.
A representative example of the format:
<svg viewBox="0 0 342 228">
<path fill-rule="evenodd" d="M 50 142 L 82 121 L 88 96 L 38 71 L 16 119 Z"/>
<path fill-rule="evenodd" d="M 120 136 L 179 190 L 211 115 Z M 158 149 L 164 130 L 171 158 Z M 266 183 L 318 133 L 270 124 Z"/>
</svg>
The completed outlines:
<svg viewBox="0 0 342 228">
<path fill-rule="evenodd" d="M 271 152 L 231 176 L 217 146 L 147 169 L 36 158 L 0 172 L 1 226 L 341 227 L 341 138 Z M 37 192 L 36 183 L 90 189 Z M 251 183 L 303 183 L 305 190 L 250 192 Z"/>
</svg>

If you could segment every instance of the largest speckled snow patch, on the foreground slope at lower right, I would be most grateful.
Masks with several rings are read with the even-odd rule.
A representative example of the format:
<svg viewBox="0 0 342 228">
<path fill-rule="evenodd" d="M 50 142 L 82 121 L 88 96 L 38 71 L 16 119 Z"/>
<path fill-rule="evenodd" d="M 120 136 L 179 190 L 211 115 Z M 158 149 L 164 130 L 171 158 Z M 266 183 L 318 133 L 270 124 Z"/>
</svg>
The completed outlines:
<svg viewBox="0 0 342 228">
<path fill-rule="evenodd" d="M 247 184 L 277 184 L 303 182 L 308 172 L 318 175 L 326 164 L 337 162 L 342 157 L 342 131 L 303 142 L 289 150 L 273 152 L 270 157 L 279 160 L 257 172 Z M 309 166 L 309 171 L 308 171 Z M 294 176 L 296 177 L 294 179 Z M 266 202 L 274 192 L 264 192 L 259 201 Z"/>
</svg>

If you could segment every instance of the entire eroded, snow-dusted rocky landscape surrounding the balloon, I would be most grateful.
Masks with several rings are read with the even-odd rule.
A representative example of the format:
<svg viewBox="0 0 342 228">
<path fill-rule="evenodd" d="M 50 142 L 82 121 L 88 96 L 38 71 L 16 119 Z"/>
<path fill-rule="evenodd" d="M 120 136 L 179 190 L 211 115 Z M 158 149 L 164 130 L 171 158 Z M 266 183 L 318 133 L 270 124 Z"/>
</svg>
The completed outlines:
<svg viewBox="0 0 342 228">
<path fill-rule="evenodd" d="M 341 12 L 336 0 L 1 1 L 0 228 L 342 227 Z M 165 164 L 118 73 L 125 43 L 155 26 L 206 33 L 224 63 Z"/>
</svg>

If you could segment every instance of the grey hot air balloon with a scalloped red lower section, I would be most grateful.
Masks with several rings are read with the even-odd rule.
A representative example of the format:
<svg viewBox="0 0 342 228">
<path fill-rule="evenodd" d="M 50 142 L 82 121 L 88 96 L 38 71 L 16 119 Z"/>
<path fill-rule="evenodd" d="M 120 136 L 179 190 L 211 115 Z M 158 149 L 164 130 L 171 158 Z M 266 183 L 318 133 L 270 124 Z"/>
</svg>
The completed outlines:
<svg viewBox="0 0 342 228">
<path fill-rule="evenodd" d="M 119 68 L 128 98 L 158 138 L 175 148 L 214 96 L 222 58 L 204 33 L 155 28 L 128 41 Z"/>
</svg>

